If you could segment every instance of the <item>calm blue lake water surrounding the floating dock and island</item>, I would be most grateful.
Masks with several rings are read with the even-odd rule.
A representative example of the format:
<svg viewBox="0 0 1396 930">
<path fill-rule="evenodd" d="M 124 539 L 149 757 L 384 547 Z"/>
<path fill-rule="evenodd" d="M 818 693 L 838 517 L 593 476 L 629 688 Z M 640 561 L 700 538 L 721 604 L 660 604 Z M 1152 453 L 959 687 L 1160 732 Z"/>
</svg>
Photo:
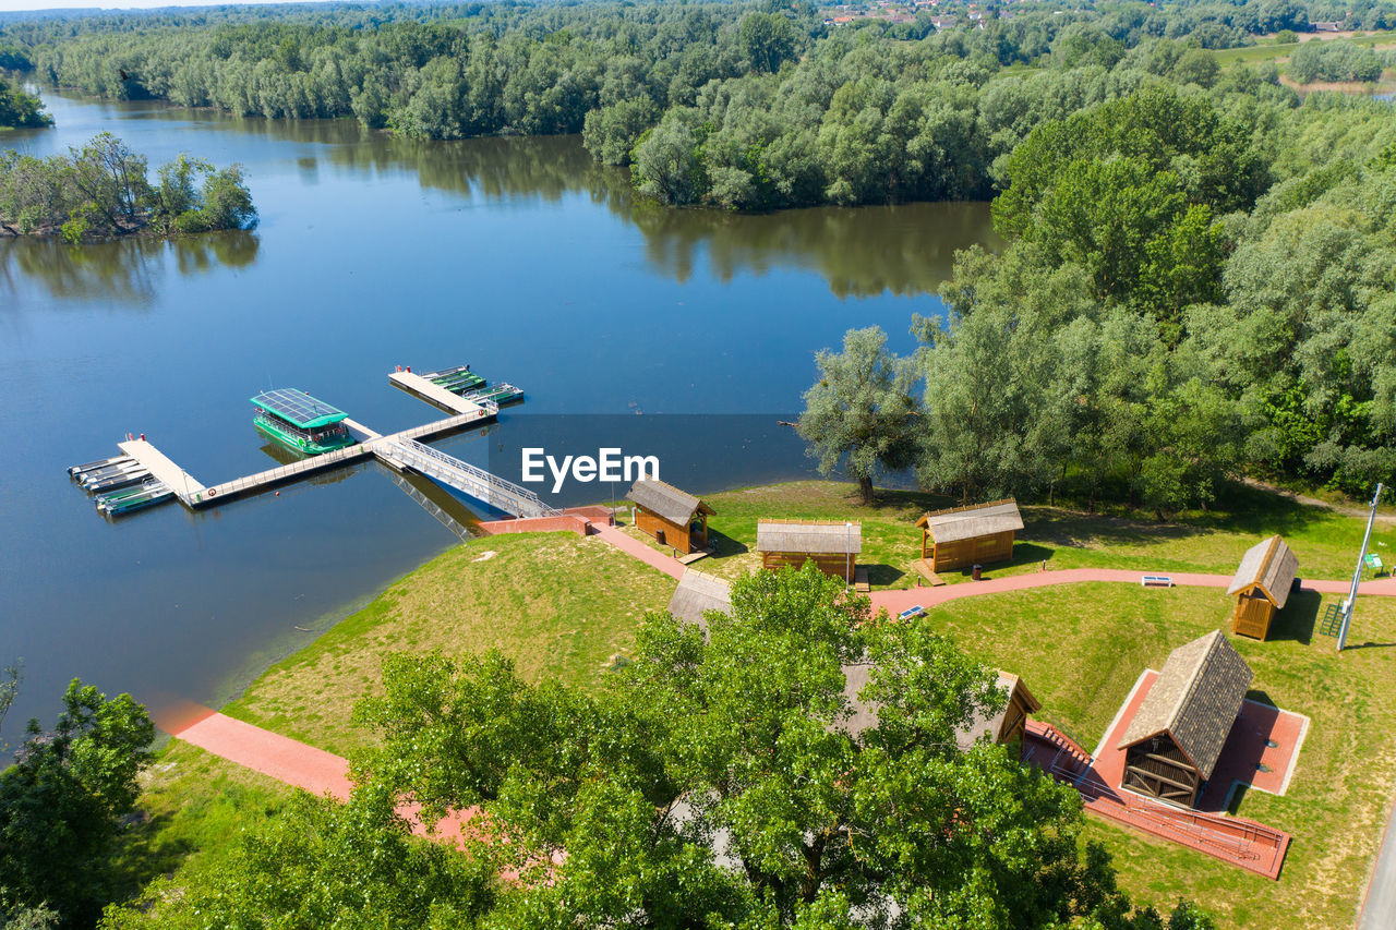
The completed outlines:
<svg viewBox="0 0 1396 930">
<path fill-rule="evenodd" d="M 127 431 L 214 483 L 272 464 L 248 415 L 261 388 L 304 388 L 388 431 L 437 416 L 388 385 L 394 364 L 462 362 L 524 387 L 514 416 L 787 412 L 812 353 L 849 327 L 910 350 L 953 250 L 993 244 L 981 204 L 740 216 L 637 202 L 575 138 L 417 142 L 46 99 L 57 127 L 0 147 L 47 155 L 110 130 L 152 166 L 181 151 L 242 162 L 261 225 L 0 240 L 0 663 L 27 665 L 0 743 L 52 718 L 73 676 L 156 707 L 221 702 L 455 542 L 374 465 L 106 522 L 66 468 Z M 479 458 L 487 441 L 441 445 Z M 804 468 L 718 466 L 695 490 Z"/>
</svg>

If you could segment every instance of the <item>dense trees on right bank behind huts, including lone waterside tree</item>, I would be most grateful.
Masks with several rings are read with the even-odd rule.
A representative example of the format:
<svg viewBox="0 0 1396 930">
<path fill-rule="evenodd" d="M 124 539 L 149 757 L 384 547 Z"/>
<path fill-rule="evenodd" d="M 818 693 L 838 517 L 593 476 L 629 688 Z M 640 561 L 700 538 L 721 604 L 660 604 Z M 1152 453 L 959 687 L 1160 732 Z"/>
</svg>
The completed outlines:
<svg viewBox="0 0 1396 930">
<path fill-rule="evenodd" d="M 1160 517 L 1241 475 L 1396 476 L 1389 103 L 1150 87 L 1039 124 L 1001 170 L 1009 246 L 959 254 L 924 349 L 857 331 L 819 356 L 801 431 L 826 466 Z"/>
</svg>

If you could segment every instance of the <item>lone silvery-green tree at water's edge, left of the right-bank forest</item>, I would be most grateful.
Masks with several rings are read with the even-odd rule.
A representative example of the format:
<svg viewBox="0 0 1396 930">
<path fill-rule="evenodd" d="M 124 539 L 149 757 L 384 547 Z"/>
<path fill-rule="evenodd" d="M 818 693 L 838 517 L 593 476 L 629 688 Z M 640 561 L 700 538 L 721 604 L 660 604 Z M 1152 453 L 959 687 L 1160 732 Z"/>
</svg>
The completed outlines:
<svg viewBox="0 0 1396 930">
<path fill-rule="evenodd" d="M 829 475 L 840 464 L 857 480 L 863 503 L 872 503 L 872 476 L 916 462 L 916 364 L 886 350 L 878 327 L 850 330 L 843 352 L 822 349 L 814 356 L 819 380 L 804 392 L 797 430 Z"/>
</svg>

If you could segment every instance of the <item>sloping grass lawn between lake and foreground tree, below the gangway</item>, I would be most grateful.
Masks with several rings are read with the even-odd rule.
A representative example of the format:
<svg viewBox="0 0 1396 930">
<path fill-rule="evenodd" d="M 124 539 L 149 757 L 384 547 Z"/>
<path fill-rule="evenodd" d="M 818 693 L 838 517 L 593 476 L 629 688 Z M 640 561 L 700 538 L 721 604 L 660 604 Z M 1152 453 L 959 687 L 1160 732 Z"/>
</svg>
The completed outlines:
<svg viewBox="0 0 1396 930">
<path fill-rule="evenodd" d="M 671 578 L 596 538 L 477 539 L 271 666 L 223 712 L 346 754 L 369 739 L 349 715 L 357 698 L 377 691 L 384 655 L 497 647 L 525 679 L 586 686 L 630 644 L 644 612 L 667 605 L 673 591 Z"/>
</svg>

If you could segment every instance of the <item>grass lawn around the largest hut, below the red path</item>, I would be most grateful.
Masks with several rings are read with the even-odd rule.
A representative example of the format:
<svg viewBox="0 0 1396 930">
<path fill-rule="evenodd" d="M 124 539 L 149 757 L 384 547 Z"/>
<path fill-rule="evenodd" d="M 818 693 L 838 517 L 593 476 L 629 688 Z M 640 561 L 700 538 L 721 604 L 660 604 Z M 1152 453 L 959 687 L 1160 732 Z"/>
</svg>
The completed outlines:
<svg viewBox="0 0 1396 930">
<path fill-rule="evenodd" d="M 1230 603 L 1216 589 L 1085 584 L 958 600 L 926 623 L 1020 674 L 1044 712 L 1094 748 L 1139 673 L 1222 627 Z M 1351 926 L 1396 783 L 1396 599 L 1358 602 L 1349 642 L 1360 648 L 1342 656 L 1314 634 L 1322 603 L 1291 599 L 1266 642 L 1231 638 L 1255 672 L 1251 697 L 1312 721 L 1287 795 L 1248 792 L 1235 811 L 1294 836 L 1280 880 L 1092 820 L 1089 835 L 1138 899 L 1191 898 L 1223 927 Z"/>
</svg>

